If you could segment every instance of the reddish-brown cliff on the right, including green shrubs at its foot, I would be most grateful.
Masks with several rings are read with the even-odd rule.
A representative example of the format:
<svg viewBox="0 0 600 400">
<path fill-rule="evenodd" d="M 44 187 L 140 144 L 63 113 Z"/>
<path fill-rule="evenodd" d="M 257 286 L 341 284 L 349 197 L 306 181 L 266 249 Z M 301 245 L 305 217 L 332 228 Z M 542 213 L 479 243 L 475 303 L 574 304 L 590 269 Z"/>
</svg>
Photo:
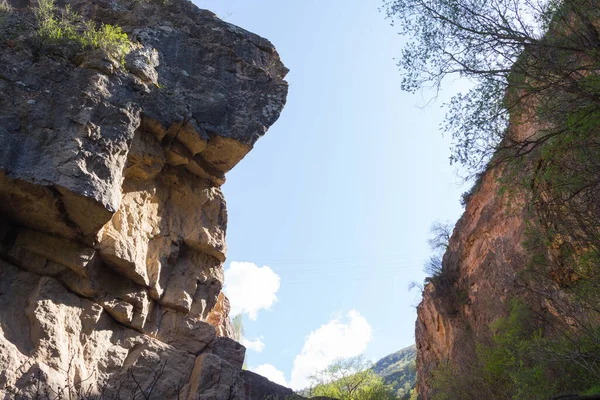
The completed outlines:
<svg viewBox="0 0 600 400">
<path fill-rule="evenodd" d="M 600 397 L 599 109 L 571 91 L 582 82 L 554 85 L 507 90 L 527 100 L 417 308 L 420 399 Z"/>
</svg>

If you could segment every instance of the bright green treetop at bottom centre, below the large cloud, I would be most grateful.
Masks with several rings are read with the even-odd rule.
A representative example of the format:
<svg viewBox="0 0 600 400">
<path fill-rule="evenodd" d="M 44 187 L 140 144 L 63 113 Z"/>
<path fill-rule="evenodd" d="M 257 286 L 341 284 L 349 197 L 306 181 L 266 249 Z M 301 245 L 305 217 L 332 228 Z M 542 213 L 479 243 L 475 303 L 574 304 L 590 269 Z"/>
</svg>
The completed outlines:
<svg viewBox="0 0 600 400">
<path fill-rule="evenodd" d="M 311 376 L 310 397 L 326 396 L 339 400 L 392 400 L 393 391 L 371 369 L 362 356 L 338 360 Z"/>
</svg>

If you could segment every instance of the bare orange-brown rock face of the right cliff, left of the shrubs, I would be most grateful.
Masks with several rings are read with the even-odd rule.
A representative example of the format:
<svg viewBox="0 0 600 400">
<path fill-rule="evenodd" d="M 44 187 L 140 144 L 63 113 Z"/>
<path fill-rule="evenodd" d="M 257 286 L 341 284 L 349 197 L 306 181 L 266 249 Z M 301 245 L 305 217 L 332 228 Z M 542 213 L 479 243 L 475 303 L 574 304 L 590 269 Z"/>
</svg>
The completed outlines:
<svg viewBox="0 0 600 400">
<path fill-rule="evenodd" d="M 523 269 L 525 222 L 509 211 L 499 194 L 498 171 L 479 182 L 454 228 L 443 258 L 443 279 L 425 286 L 417 308 L 417 389 L 431 396 L 432 372 L 451 361 L 460 369 L 471 363 L 475 343 L 489 341 L 489 325 L 506 313 L 509 294 L 518 293 L 516 274 Z"/>
</svg>

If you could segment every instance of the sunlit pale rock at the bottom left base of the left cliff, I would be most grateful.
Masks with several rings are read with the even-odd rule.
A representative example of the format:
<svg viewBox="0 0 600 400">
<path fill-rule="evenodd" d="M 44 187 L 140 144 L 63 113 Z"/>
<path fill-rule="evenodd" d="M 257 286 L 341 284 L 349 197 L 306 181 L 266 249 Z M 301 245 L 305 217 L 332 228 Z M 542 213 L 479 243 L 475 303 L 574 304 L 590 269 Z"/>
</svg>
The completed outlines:
<svg viewBox="0 0 600 400">
<path fill-rule="evenodd" d="M 192 370 L 194 356 L 117 324 L 103 308 L 64 290 L 53 278 L 39 277 L 0 261 L 0 397 L 16 391 L 34 398 L 43 387 L 55 390 L 85 382 L 93 390 L 103 379 L 119 382 L 127 368 L 148 387 L 152 368 L 167 362 L 157 381 L 157 398 L 175 398 L 171 385 Z M 25 312 L 23 312 L 25 311 Z M 39 375 L 38 375 L 39 374 Z M 111 378 L 112 377 L 112 378 Z M 134 382 L 122 385 L 123 393 Z M 127 397 L 125 397 L 127 398 Z"/>
</svg>

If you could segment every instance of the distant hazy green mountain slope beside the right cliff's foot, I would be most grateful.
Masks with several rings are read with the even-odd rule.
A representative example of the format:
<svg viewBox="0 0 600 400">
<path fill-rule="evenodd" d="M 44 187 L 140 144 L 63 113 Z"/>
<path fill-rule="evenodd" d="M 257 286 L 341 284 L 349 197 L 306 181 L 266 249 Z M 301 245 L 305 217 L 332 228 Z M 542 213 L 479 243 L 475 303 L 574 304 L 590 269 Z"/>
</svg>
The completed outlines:
<svg viewBox="0 0 600 400">
<path fill-rule="evenodd" d="M 394 388 L 398 398 L 408 399 L 417 380 L 416 357 L 415 346 L 406 347 L 377 361 L 373 372 Z"/>
</svg>

